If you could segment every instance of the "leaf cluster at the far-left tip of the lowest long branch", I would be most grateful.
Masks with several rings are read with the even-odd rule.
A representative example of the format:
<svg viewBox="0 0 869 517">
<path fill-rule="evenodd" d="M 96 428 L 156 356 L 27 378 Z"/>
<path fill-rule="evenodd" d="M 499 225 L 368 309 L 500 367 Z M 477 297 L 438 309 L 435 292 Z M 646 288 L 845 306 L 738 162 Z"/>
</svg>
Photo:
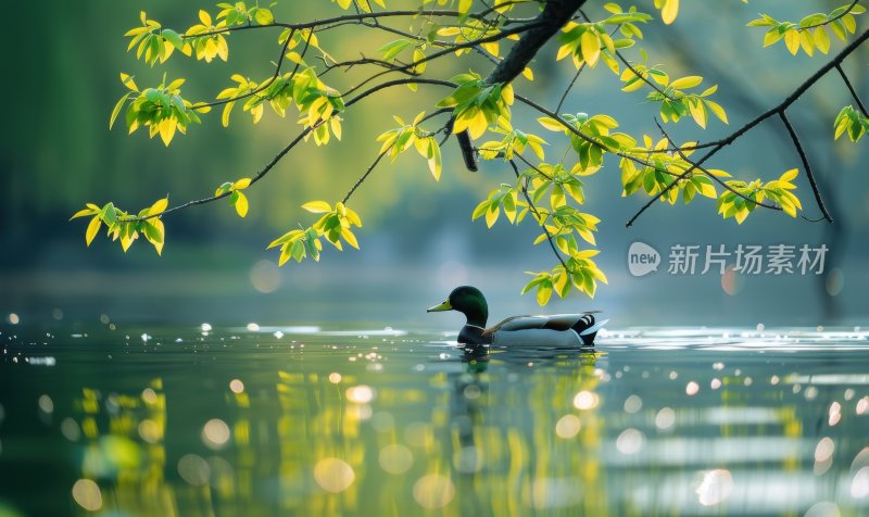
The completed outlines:
<svg viewBox="0 0 869 517">
<path fill-rule="evenodd" d="M 121 247 L 126 253 L 133 242 L 143 235 L 158 254 L 163 253 L 163 241 L 165 229 L 160 216 L 168 206 L 168 198 L 163 198 L 154 202 L 151 206 L 139 211 L 136 217 L 130 217 L 127 212 L 117 209 L 113 203 L 106 203 L 102 207 L 93 203 L 87 203 L 84 210 L 76 212 L 72 217 L 91 217 L 88 228 L 85 231 L 85 242 L 90 247 L 102 225 L 108 227 L 108 235 L 112 240 L 121 240 Z"/>
</svg>

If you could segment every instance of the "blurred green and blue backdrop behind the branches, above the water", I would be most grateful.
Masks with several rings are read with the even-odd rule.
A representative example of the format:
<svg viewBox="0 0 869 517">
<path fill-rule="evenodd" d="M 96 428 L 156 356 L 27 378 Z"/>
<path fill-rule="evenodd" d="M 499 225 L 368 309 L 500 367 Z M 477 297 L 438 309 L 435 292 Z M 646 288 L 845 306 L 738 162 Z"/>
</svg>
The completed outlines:
<svg viewBox="0 0 869 517">
<path fill-rule="evenodd" d="M 411 2 L 413 3 L 413 2 Z M 592 17 L 602 2 L 589 2 Z M 652 11 L 651 1 L 639 4 Z M 842 1 L 757 1 L 748 5 L 728 0 L 683 2 L 677 23 L 664 27 L 655 20 L 644 31 L 653 63 L 672 76 L 700 74 L 720 85 L 717 99 L 728 111 L 730 126 L 717 122 L 704 133 L 690 121 L 671 127 L 677 140 L 709 140 L 727 135 L 756 114 L 780 102 L 796 85 L 824 63 L 824 56 L 792 58 L 783 45 L 761 49 L 763 30 L 745 24 L 758 11 L 798 20 L 829 12 Z M 23 323 L 96 320 L 222 320 L 231 323 L 305 323 L 365 320 L 383 325 L 452 326 L 455 319 L 426 318 L 426 306 L 442 300 L 458 283 L 473 283 L 489 294 L 493 318 L 537 312 L 532 297 L 520 297 L 525 270 L 554 265 L 544 245 L 532 247 L 537 228 L 526 222 L 511 227 L 500 222 L 487 230 L 470 213 L 488 192 L 511 181 L 502 163 L 484 164 L 479 173 L 464 169 L 454 140 L 444 147 L 444 174 L 434 182 L 425 162 L 407 153 L 385 164 L 364 184 L 351 205 L 365 222 L 362 250 L 327 250 L 320 263 L 276 267 L 277 253 L 265 251 L 276 236 L 310 224 L 299 209 L 311 199 L 339 200 L 376 156 L 375 137 L 394 126 L 392 114 L 413 118 L 431 111 L 443 91 L 420 88 L 413 94 L 392 89 L 354 106 L 345 114 L 343 141 L 316 148 L 313 141 L 293 150 L 264 181 L 250 189 L 251 211 L 240 219 L 227 202 L 186 210 L 165 218 L 167 243 L 163 257 L 137 242 L 124 254 L 117 243 L 98 237 L 85 247 L 86 223 L 67 222 L 86 202 L 114 201 L 138 211 L 168 193 L 171 204 L 213 192 L 226 180 L 252 176 L 298 131 L 293 115 L 281 119 L 267 112 L 253 126 L 237 108 L 225 129 L 219 113 L 205 115 L 202 126 L 176 136 L 166 149 L 143 131 L 127 136 L 123 124 L 110 131 L 109 115 L 125 91 L 117 76 L 127 72 L 139 86 L 169 77 L 186 77 L 185 96 L 213 98 L 239 72 L 262 79 L 272 70 L 277 31 L 250 31 L 229 38 L 229 62 L 211 64 L 174 55 L 165 67 L 149 68 L 125 52 L 122 35 L 139 24 L 140 10 L 164 26 L 186 28 L 197 23 L 200 8 L 210 3 L 167 0 L 137 2 L 37 2 L 28 4 L 28 23 L 2 31 L 7 100 L 0 138 L 0 314 L 16 314 Z M 278 20 L 312 20 L 337 13 L 336 4 L 281 2 Z M 396 23 L 401 25 L 400 23 Z M 859 20 L 859 27 L 866 22 Z M 324 47 L 339 59 L 371 54 L 394 39 L 385 33 L 347 26 L 322 36 Z M 831 54 L 843 45 L 835 42 Z M 517 91 L 553 106 L 575 70 L 554 62 L 550 46 L 534 64 L 537 80 L 516 83 Z M 629 55 L 635 56 L 635 53 Z M 858 91 L 869 99 L 869 47 L 845 62 Z M 467 68 L 486 75 L 491 64 L 478 56 L 431 67 L 449 77 Z M 339 90 L 357 74 L 333 74 Z M 619 172 L 609 162 L 587 178 L 588 212 L 603 219 L 599 235 L 600 264 L 609 277 L 594 301 L 580 295 L 555 300 L 546 311 L 602 308 L 621 325 L 859 325 L 866 315 L 866 235 L 869 190 L 866 143 L 832 140 L 832 122 L 852 103 L 840 78 L 830 75 L 789 112 L 805 141 L 835 223 L 808 223 L 779 213 L 758 212 L 742 226 L 716 215 L 714 202 L 690 206 L 656 205 L 632 227 L 625 222 L 642 199 L 621 198 Z M 655 110 L 643 94 L 618 91 L 618 81 L 603 67 L 582 74 L 564 111 L 607 113 L 633 136 L 657 136 Z M 293 113 L 290 110 L 289 113 Z M 552 156 L 564 142 L 540 129 L 534 113 L 517 108 L 515 124 L 554 142 Z M 536 127 L 537 126 L 537 127 Z M 719 153 L 711 165 L 744 179 L 771 179 L 798 166 L 798 159 L 776 119 Z M 820 214 L 801 173 L 798 196 L 804 214 Z M 828 255 L 824 275 L 736 278 L 730 293 L 718 275 L 672 276 L 666 264 L 656 274 L 631 277 L 626 266 L 631 242 L 643 241 L 662 252 L 677 243 L 820 245 Z M 328 245 L 327 245 L 328 247 Z"/>
</svg>

